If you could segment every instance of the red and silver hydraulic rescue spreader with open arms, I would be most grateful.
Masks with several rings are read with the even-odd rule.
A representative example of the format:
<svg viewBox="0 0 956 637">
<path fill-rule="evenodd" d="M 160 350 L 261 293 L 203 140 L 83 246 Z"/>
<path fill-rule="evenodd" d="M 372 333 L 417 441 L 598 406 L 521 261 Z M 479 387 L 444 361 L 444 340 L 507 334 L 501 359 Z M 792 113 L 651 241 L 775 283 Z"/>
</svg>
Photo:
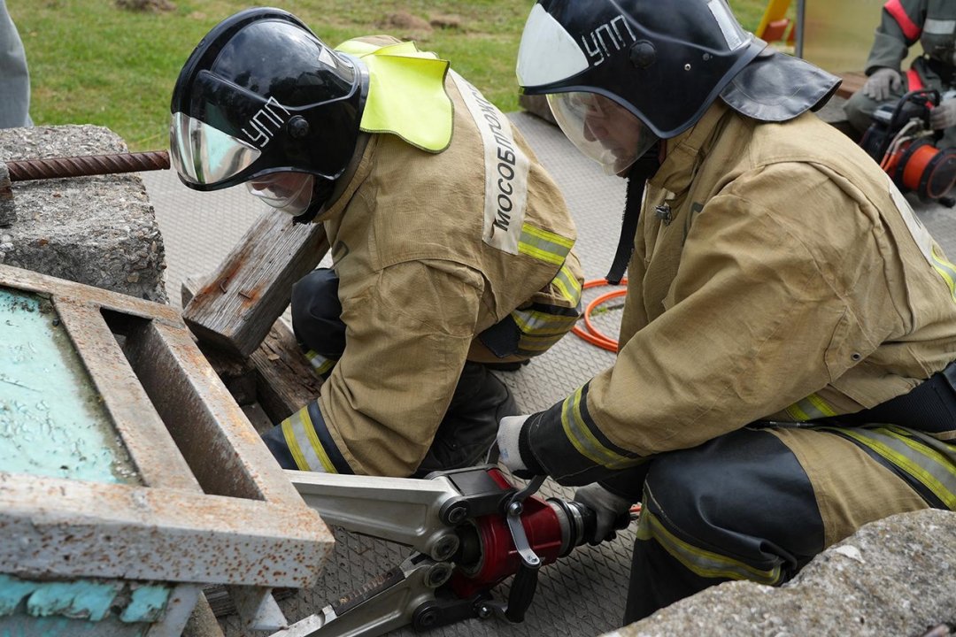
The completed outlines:
<svg viewBox="0 0 956 637">
<path fill-rule="evenodd" d="M 401 564 L 272 637 L 372 637 L 469 618 L 524 620 L 538 569 L 594 536 L 594 512 L 575 501 L 532 494 L 494 466 L 436 472 L 425 479 L 287 471 L 328 524 L 414 549 Z M 629 521 L 629 520 L 627 520 Z M 492 587 L 514 575 L 507 602 Z"/>
</svg>

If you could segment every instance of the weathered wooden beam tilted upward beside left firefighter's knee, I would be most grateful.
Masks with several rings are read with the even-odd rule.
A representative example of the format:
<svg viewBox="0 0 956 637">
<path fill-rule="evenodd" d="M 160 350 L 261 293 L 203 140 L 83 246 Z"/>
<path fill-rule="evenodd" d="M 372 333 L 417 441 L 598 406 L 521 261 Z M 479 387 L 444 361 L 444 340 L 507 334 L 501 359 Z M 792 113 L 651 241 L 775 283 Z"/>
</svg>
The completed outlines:
<svg viewBox="0 0 956 637">
<path fill-rule="evenodd" d="M 289 215 L 262 213 L 183 310 L 196 337 L 247 358 L 289 307 L 293 283 L 325 256 L 320 223 L 294 224 Z"/>
</svg>

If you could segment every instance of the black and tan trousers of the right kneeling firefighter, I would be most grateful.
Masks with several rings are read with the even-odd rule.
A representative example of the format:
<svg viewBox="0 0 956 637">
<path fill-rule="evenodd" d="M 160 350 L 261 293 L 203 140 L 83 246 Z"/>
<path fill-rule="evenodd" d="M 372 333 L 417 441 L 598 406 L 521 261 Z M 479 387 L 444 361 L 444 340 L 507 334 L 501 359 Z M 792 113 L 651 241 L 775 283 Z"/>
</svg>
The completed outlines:
<svg viewBox="0 0 956 637">
<path fill-rule="evenodd" d="M 721 582 L 782 584 L 869 521 L 956 508 L 956 445 L 894 425 L 747 428 L 632 479 L 643 496 L 625 625 Z"/>
</svg>

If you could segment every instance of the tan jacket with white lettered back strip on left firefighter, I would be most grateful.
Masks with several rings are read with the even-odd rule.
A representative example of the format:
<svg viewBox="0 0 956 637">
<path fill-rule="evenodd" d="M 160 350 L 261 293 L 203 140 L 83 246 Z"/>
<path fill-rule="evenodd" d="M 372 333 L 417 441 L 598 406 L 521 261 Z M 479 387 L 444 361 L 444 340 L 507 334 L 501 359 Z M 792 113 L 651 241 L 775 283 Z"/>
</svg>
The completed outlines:
<svg viewBox="0 0 956 637">
<path fill-rule="evenodd" d="M 337 450 L 319 448 L 322 432 L 316 439 L 306 431 L 299 442 L 312 442 L 317 457 L 337 451 L 357 474 L 407 476 L 418 467 L 466 359 L 500 360 L 477 334 L 516 308 L 527 308 L 512 314 L 518 320 L 547 324 L 532 302 L 579 301 L 576 231 L 560 190 L 467 81 L 449 72 L 445 90 L 454 106 L 450 145 L 432 154 L 372 135 L 344 193 L 320 217 L 346 347 L 318 398 L 324 425 L 306 425 L 327 429 Z M 574 321 L 538 325 L 523 357 L 546 350 Z"/>
</svg>

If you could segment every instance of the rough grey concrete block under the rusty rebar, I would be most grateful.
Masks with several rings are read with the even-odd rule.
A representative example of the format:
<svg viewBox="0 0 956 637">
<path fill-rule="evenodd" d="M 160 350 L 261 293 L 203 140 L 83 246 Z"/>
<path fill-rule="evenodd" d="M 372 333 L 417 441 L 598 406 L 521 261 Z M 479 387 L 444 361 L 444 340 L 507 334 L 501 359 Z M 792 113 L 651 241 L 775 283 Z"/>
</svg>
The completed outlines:
<svg viewBox="0 0 956 637">
<path fill-rule="evenodd" d="M 125 152 L 101 126 L 0 130 L 0 162 Z M 17 214 L 0 223 L 0 264 L 166 302 L 163 237 L 139 175 L 14 181 L 11 193 Z"/>
</svg>

